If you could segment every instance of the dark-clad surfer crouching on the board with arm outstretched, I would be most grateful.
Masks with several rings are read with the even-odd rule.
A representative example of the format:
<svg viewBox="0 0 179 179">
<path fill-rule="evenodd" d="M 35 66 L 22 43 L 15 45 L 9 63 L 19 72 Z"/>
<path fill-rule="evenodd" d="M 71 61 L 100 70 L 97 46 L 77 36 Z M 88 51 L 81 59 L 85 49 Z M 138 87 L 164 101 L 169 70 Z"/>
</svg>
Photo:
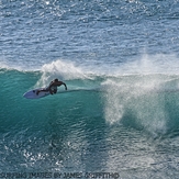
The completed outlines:
<svg viewBox="0 0 179 179">
<path fill-rule="evenodd" d="M 57 92 L 57 87 L 59 87 L 59 86 L 61 86 L 61 85 L 64 85 L 64 86 L 65 86 L 65 89 L 67 90 L 66 83 L 63 82 L 63 81 L 59 81 L 59 80 L 56 78 L 56 79 L 54 79 L 53 81 L 51 81 L 49 86 L 48 86 L 46 89 L 37 90 L 36 94 L 38 96 L 38 93 L 40 93 L 41 91 L 44 91 L 44 92 L 48 92 L 48 91 L 49 91 L 51 94 L 54 94 L 54 93 Z"/>
</svg>

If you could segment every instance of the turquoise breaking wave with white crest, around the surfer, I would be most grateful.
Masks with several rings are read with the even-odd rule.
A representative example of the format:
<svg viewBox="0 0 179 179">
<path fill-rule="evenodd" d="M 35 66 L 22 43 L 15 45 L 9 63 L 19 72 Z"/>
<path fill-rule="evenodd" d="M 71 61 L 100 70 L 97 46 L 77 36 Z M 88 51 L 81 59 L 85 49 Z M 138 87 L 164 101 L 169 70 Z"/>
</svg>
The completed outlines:
<svg viewBox="0 0 179 179">
<path fill-rule="evenodd" d="M 65 80 L 69 89 L 67 92 L 64 88 L 58 88 L 58 94 L 36 102 L 23 99 L 24 92 L 35 87 L 47 86 L 51 79 L 56 77 Z M 166 134 L 179 126 L 178 75 L 94 75 L 83 72 L 72 64 L 55 61 L 44 65 L 42 70 L 37 71 L 1 68 L 0 82 L 3 87 L 0 89 L 3 93 L 0 108 L 0 119 L 3 119 L 1 126 L 4 126 L 7 121 L 31 121 L 24 115 L 30 109 L 35 111 L 31 113 L 31 118 L 48 119 L 51 116 L 45 115 L 44 110 L 51 111 L 52 107 L 46 107 L 46 103 L 55 101 L 59 101 L 59 104 L 53 105 L 56 111 L 72 111 L 79 108 L 83 118 L 98 115 L 104 119 L 107 125 L 124 125 L 154 135 Z M 36 113 L 38 105 L 43 108 Z M 71 115 L 76 116 L 77 111 L 74 110 Z M 58 119 L 58 114 L 55 118 Z"/>
</svg>

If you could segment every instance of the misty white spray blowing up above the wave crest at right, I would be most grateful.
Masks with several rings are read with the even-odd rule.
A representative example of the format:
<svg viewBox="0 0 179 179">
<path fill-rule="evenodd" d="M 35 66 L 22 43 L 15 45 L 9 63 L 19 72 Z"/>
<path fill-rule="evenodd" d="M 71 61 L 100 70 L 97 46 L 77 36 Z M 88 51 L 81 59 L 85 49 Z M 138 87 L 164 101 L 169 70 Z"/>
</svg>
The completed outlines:
<svg viewBox="0 0 179 179">
<path fill-rule="evenodd" d="M 143 54 L 135 60 L 124 64 L 119 70 L 120 74 L 179 74 L 179 57 L 175 54 Z"/>
</svg>

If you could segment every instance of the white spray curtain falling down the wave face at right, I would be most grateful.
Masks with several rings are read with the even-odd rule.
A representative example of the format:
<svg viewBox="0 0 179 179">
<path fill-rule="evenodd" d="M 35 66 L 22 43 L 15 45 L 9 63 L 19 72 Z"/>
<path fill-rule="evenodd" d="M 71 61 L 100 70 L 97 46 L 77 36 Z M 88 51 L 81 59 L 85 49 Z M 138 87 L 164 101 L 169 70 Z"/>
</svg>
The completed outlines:
<svg viewBox="0 0 179 179">
<path fill-rule="evenodd" d="M 166 110 L 168 100 L 165 89 L 169 76 L 161 77 L 165 76 L 131 75 L 103 82 L 107 122 L 145 130 L 154 135 L 165 134 L 169 130 L 167 123 L 172 116 Z"/>
</svg>

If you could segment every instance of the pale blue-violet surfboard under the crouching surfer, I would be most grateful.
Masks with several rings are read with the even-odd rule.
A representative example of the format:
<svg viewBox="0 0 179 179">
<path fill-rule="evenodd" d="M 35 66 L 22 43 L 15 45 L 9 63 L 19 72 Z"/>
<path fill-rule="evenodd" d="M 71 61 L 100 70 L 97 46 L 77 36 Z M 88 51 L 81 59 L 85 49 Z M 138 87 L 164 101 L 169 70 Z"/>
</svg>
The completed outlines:
<svg viewBox="0 0 179 179">
<path fill-rule="evenodd" d="M 36 94 L 37 90 L 42 90 L 42 89 L 45 88 L 37 88 L 37 89 L 30 90 L 25 92 L 23 97 L 26 99 L 38 99 L 38 98 L 47 97 L 49 92 L 45 92 L 45 91 L 41 91 L 38 94 Z"/>
</svg>

